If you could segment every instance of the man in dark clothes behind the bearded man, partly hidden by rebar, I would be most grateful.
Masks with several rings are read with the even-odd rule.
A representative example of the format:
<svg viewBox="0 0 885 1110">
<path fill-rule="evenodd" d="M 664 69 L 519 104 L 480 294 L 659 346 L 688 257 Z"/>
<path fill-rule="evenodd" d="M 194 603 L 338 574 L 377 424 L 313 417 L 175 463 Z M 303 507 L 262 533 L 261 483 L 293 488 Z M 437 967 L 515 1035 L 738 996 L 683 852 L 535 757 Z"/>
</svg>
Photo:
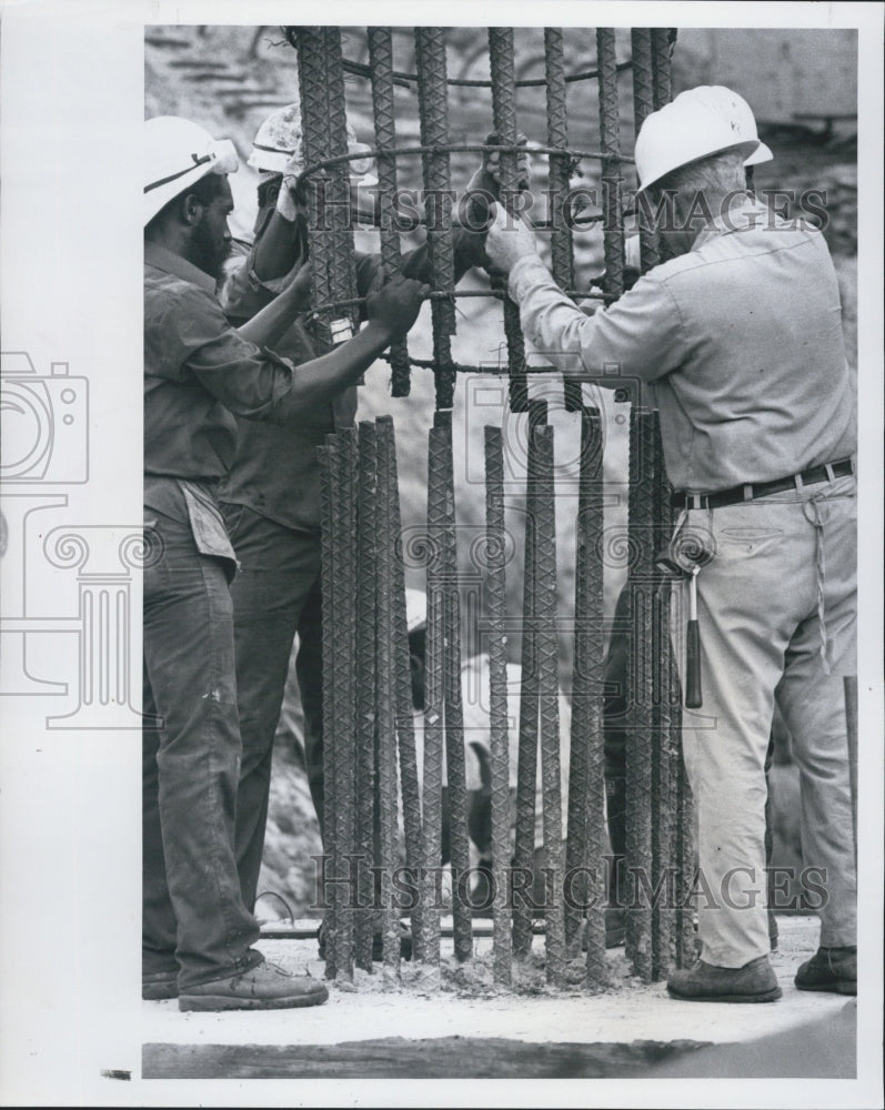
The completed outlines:
<svg viewBox="0 0 885 1110">
<path fill-rule="evenodd" d="M 356 150 L 350 131 L 351 150 Z M 258 169 L 255 240 L 225 283 L 222 302 L 233 323 L 249 320 L 288 289 L 308 258 L 306 221 L 299 174 L 304 169 L 300 108 L 273 112 L 259 129 L 250 164 Z M 366 184 L 358 165 L 352 185 Z M 525 164 L 523 161 L 523 171 Z M 496 194 L 494 168 L 483 168 L 469 190 Z M 487 205 L 486 205 L 487 214 Z M 482 213 L 475 219 L 481 223 Z M 454 229 L 454 276 L 482 265 L 483 236 Z M 425 280 L 429 252 L 403 258 L 402 272 Z M 356 255 L 361 296 L 380 280 L 378 254 Z M 311 340 L 300 322 L 283 337 L 284 353 L 311 357 Z M 296 673 L 304 710 L 305 765 L 311 796 L 323 826 L 322 625 L 320 502 L 316 447 L 335 427 L 353 423 L 355 389 L 342 390 L 304 411 L 284 428 L 239 422 L 237 454 L 220 493 L 224 517 L 242 568 L 232 587 L 237 634 L 237 680 L 243 760 L 237 804 L 237 859 L 243 900 L 254 906 L 270 791 L 273 736 L 298 633 Z"/>
</svg>

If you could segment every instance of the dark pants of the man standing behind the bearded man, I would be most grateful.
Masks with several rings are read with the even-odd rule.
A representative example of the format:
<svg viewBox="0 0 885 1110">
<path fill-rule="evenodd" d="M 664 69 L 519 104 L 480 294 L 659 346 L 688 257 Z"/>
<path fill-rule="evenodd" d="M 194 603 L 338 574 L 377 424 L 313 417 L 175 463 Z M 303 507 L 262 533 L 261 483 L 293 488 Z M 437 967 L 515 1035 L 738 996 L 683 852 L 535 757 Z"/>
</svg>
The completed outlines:
<svg viewBox="0 0 885 1110">
<path fill-rule="evenodd" d="M 268 820 L 273 737 L 295 633 L 311 797 L 323 823 L 322 595 L 320 537 L 295 532 L 244 505 L 222 504 L 240 561 L 231 586 L 243 756 L 237 796 L 237 866 L 253 909 Z"/>
</svg>

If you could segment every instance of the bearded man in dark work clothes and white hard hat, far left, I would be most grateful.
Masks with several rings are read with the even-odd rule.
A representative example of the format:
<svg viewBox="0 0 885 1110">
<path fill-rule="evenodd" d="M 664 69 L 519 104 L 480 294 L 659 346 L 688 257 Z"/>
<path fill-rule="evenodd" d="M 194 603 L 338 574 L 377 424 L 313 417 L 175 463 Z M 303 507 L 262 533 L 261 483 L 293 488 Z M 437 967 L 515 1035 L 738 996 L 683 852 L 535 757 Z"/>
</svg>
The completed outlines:
<svg viewBox="0 0 885 1110">
<path fill-rule="evenodd" d="M 230 249 L 228 140 L 177 117 L 144 124 L 144 712 L 142 996 L 182 1010 L 325 1001 L 266 962 L 234 858 L 241 740 L 229 585 L 237 561 L 217 501 L 233 413 L 284 424 L 355 382 L 429 293 L 396 279 L 369 323 L 298 366 L 274 344 L 306 302 L 294 282 L 233 329 L 215 284 Z"/>
</svg>

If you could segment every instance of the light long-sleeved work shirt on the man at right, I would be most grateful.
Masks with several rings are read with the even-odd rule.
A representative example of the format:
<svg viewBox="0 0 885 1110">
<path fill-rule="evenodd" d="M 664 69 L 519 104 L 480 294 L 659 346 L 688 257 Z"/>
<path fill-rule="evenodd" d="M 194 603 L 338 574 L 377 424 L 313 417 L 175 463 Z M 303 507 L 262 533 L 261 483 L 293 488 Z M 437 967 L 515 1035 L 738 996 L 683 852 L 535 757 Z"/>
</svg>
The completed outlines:
<svg viewBox="0 0 885 1110">
<path fill-rule="evenodd" d="M 510 274 L 523 331 L 566 376 L 651 383 L 667 475 L 712 493 L 856 450 L 836 274 L 824 236 L 747 202 L 584 315 L 536 256 Z"/>
</svg>

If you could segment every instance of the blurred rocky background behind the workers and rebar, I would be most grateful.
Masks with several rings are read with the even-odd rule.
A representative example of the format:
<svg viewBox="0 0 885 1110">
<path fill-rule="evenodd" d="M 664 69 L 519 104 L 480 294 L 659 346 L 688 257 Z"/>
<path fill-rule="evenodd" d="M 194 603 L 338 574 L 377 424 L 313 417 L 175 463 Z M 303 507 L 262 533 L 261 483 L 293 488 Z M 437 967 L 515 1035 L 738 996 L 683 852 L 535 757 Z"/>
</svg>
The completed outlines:
<svg viewBox="0 0 885 1110">
<path fill-rule="evenodd" d="M 366 64 L 365 33 L 360 28 L 344 30 L 345 57 Z M 543 32 L 520 28 L 517 40 L 517 78 L 543 75 Z M 449 74 L 460 78 L 487 78 L 489 59 L 485 32 L 482 28 L 452 28 L 449 36 Z M 775 152 L 775 161 L 757 168 L 758 189 L 785 189 L 799 195 L 807 189 L 826 193 L 827 225 L 825 235 L 833 252 L 843 300 L 843 319 L 848 357 L 857 365 L 857 175 L 856 175 L 856 65 L 854 32 L 799 30 L 704 30 L 680 32 L 674 53 L 674 93 L 698 83 L 727 83 L 742 92 L 756 110 L 762 138 Z M 414 72 L 412 31 L 394 29 L 395 67 Z M 619 60 L 630 57 L 630 34 L 619 32 Z M 593 29 L 571 29 L 566 34 L 566 72 L 594 68 L 595 34 Z M 632 135 L 632 100 L 630 73 L 622 74 L 622 145 L 628 150 Z M 251 140 L 265 115 L 276 107 L 296 99 L 298 74 L 295 53 L 275 27 L 151 27 L 145 33 L 145 117 L 179 114 L 203 124 L 215 135 L 234 140 L 242 159 L 241 170 L 231 179 L 237 202 L 232 220 L 234 233 L 248 236 L 255 211 L 257 175 L 245 164 Z M 358 137 L 372 140 L 371 93 L 368 81 L 351 74 L 346 83 L 348 114 Z M 414 84 L 396 88 L 398 134 L 403 144 L 418 139 L 418 98 Z M 543 142 L 545 115 L 543 90 L 521 89 L 517 111 L 520 127 L 530 141 Z M 594 82 L 570 87 L 570 141 L 576 149 L 597 149 Z M 491 93 L 484 89 L 452 89 L 450 124 L 452 141 L 481 141 L 491 130 Z M 474 168 L 473 155 L 453 154 L 453 184 L 465 182 Z M 545 186 L 546 167 L 534 159 L 533 189 Z M 593 185 L 596 164 L 585 162 L 581 172 Z M 403 159 L 400 183 L 405 188 L 420 185 L 419 159 Z M 358 245 L 375 250 L 375 233 L 360 232 Z M 413 243 L 418 243 L 418 239 Z M 404 241 L 403 248 L 410 244 Z M 586 287 L 602 269 L 601 233 L 593 229 L 575 236 L 579 287 Z M 462 287 L 482 287 L 485 278 L 473 272 Z M 503 329 L 501 306 L 485 300 L 459 302 L 459 333 L 453 337 L 453 355 L 463 363 L 486 365 L 496 363 L 502 354 Z M 422 313 L 410 334 L 413 355 L 431 353 L 429 313 Z M 433 384 L 428 371 L 413 372 L 412 395 L 390 397 L 389 369 L 379 363 L 366 375 L 361 391 L 361 418 L 382 413 L 394 416 L 401 475 L 401 501 L 405 527 L 421 526 L 426 509 L 424 475 L 426 472 L 426 431 L 433 410 Z M 617 528 L 624 516 L 624 474 L 626 463 L 626 422 L 624 406 L 603 400 L 606 415 L 606 526 Z M 482 421 L 464 405 L 464 387 L 460 385 L 455 411 L 456 502 L 460 524 L 470 529 L 484 519 L 483 490 L 475 480 L 476 461 L 482 460 Z M 574 418 L 554 412 L 551 423 L 556 427 L 557 464 L 569 473 L 570 461 L 576 457 L 577 428 Z M 519 432 L 519 430 L 516 430 Z M 515 437 L 519 440 L 519 434 Z M 520 460 L 513 461 L 519 472 Z M 574 513 L 564 493 L 557 504 L 561 615 L 569 616 L 574 596 L 573 537 Z M 514 509 L 519 506 L 514 506 Z M 511 516 L 514 535 L 521 528 Z M 516 546 L 516 545 L 514 545 Z M 465 555 L 466 558 L 466 555 Z M 520 612 L 519 557 L 510 573 L 511 612 Z M 462 569 L 470 572 L 467 563 Z M 612 559 L 606 567 L 606 612 L 611 614 L 614 598 L 624 578 L 624 567 Z M 419 568 L 409 572 L 409 585 L 423 588 Z M 465 638 L 464 650 L 476 650 L 477 644 Z M 519 659 L 519 639 L 511 645 L 512 659 Z M 562 644 L 563 678 L 567 688 L 570 646 Z M 322 850 L 315 815 L 303 776 L 300 754 L 298 695 L 294 683 L 278 730 L 274 755 L 271 816 L 268 828 L 264 868 L 260 889 L 268 894 L 260 899 L 262 916 L 281 917 L 291 911 L 295 917 L 312 916 L 314 901 L 314 865 L 311 856 Z M 801 859 L 798 831 L 798 783 L 790 759 L 790 741 L 783 731 L 778 736 L 776 764 L 772 774 L 775 808 L 775 862 L 796 866 Z M 280 897 L 278 897 L 280 896 Z M 284 899 L 284 905 L 281 901 Z"/>
</svg>

